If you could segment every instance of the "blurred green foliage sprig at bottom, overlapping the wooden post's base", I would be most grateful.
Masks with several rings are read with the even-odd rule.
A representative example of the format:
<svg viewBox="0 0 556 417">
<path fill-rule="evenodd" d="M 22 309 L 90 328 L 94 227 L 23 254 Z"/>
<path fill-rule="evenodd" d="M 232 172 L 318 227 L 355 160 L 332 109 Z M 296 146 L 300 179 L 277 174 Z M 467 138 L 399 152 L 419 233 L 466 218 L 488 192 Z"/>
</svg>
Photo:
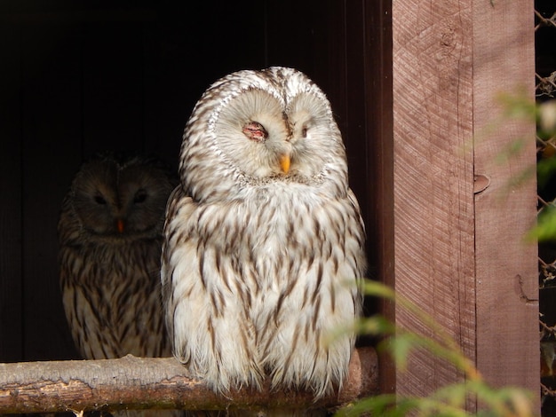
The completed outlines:
<svg viewBox="0 0 556 417">
<path fill-rule="evenodd" d="M 361 319 L 355 330 L 359 334 L 378 336 L 383 342 L 379 351 L 387 352 L 396 367 L 403 372 L 407 369 L 412 350 L 426 349 L 437 358 L 444 358 L 461 371 L 464 382 L 449 384 L 435 390 L 427 397 L 404 397 L 396 394 L 381 394 L 362 399 L 338 411 L 340 416 L 371 415 L 373 417 L 532 417 L 535 415 L 533 393 L 525 389 L 504 387 L 493 388 L 485 382 L 475 368 L 473 361 L 465 357 L 456 341 L 439 326 L 434 319 L 414 303 L 396 295 L 394 291 L 378 282 L 366 280 L 365 294 L 385 298 L 415 315 L 425 327 L 436 335 L 436 339 L 417 334 L 408 329 L 395 327 L 383 316 Z M 471 413 L 466 405 L 478 404 L 479 411 Z M 473 408 L 473 407 L 472 407 Z"/>
</svg>

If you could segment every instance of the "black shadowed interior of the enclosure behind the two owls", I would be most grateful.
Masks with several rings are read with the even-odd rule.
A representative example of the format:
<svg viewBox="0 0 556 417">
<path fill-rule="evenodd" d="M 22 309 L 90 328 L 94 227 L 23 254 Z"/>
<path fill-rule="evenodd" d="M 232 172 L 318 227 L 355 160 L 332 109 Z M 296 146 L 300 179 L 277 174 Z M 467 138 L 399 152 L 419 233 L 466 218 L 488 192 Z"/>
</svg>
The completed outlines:
<svg viewBox="0 0 556 417">
<path fill-rule="evenodd" d="M 56 224 L 82 161 L 135 149 L 176 168 L 196 100 L 234 70 L 298 67 L 327 93 L 372 248 L 387 3 L 0 0 L 0 362 L 76 358 Z"/>
</svg>

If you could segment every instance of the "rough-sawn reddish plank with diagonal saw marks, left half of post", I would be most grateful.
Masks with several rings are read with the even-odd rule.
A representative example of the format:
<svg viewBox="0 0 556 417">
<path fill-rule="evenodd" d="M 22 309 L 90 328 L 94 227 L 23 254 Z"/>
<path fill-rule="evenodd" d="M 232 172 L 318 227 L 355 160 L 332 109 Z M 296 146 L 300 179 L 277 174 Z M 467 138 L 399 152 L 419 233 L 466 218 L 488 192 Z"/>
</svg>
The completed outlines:
<svg viewBox="0 0 556 417">
<path fill-rule="evenodd" d="M 393 2 L 394 288 L 474 359 L 472 1 Z M 438 338 L 395 307 L 400 327 Z M 418 351 L 396 392 L 425 396 L 462 381 Z"/>
</svg>

